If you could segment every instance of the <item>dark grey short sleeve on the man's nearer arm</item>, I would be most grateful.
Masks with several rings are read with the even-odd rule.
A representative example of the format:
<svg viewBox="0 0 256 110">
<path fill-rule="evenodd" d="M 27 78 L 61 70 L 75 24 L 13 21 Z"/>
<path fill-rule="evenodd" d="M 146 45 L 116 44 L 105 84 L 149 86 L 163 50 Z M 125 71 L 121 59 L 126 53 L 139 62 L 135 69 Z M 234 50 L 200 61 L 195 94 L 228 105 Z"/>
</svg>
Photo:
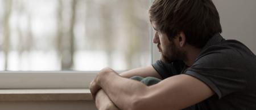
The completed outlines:
<svg viewBox="0 0 256 110">
<path fill-rule="evenodd" d="M 246 86 L 245 62 L 233 49 L 208 49 L 199 55 L 195 63 L 184 74 L 203 81 L 221 99 Z"/>
</svg>

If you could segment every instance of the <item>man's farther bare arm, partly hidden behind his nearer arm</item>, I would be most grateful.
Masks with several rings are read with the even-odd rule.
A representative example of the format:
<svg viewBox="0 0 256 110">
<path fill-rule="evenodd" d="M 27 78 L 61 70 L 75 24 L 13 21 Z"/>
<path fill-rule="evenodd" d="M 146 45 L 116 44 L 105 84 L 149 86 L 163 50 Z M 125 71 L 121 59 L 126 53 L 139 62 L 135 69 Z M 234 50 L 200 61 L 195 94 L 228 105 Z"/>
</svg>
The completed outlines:
<svg viewBox="0 0 256 110">
<path fill-rule="evenodd" d="M 162 78 L 160 75 L 155 71 L 152 66 L 143 67 L 143 68 L 136 68 L 131 69 L 130 71 L 123 72 L 120 74 L 122 77 L 130 78 L 133 76 L 141 76 L 141 77 L 156 77 Z M 104 90 L 98 91 L 96 95 L 96 107 L 100 110 L 104 109 L 118 109 L 115 104 L 109 99 L 108 95 L 105 93 Z"/>
</svg>

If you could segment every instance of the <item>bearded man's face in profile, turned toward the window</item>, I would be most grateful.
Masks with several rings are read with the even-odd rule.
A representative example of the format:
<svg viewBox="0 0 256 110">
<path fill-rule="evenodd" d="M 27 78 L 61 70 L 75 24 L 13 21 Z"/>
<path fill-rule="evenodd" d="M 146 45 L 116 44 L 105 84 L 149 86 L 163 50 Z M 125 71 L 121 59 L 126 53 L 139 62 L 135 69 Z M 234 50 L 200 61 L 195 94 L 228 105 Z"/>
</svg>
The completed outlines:
<svg viewBox="0 0 256 110">
<path fill-rule="evenodd" d="M 158 50 L 161 53 L 161 60 L 165 63 L 171 63 L 174 60 L 180 60 L 183 52 L 179 51 L 174 40 L 170 41 L 166 34 L 160 32 L 154 22 L 152 27 L 155 29 L 153 42 L 157 44 Z"/>
</svg>

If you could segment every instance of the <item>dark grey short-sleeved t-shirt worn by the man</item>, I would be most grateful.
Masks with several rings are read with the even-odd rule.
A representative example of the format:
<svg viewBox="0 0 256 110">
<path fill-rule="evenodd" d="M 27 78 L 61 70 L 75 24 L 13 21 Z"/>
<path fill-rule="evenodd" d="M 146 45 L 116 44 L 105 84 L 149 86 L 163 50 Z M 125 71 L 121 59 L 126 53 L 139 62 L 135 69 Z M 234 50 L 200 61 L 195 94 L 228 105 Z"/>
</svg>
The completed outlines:
<svg viewBox="0 0 256 110">
<path fill-rule="evenodd" d="M 188 74 L 204 82 L 216 95 L 195 105 L 196 109 L 256 109 L 256 56 L 236 40 L 213 36 L 195 63 L 183 61 L 152 64 L 163 78 Z"/>
</svg>

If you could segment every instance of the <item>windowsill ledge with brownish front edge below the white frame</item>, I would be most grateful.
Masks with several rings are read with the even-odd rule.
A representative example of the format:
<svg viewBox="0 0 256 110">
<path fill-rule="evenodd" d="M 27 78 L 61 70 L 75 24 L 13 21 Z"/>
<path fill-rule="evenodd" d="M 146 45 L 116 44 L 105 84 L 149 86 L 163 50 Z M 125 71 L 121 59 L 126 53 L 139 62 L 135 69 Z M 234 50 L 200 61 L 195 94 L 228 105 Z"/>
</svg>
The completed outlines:
<svg viewBox="0 0 256 110">
<path fill-rule="evenodd" d="M 0 101 L 88 101 L 88 89 L 6 89 L 0 90 Z"/>
</svg>

